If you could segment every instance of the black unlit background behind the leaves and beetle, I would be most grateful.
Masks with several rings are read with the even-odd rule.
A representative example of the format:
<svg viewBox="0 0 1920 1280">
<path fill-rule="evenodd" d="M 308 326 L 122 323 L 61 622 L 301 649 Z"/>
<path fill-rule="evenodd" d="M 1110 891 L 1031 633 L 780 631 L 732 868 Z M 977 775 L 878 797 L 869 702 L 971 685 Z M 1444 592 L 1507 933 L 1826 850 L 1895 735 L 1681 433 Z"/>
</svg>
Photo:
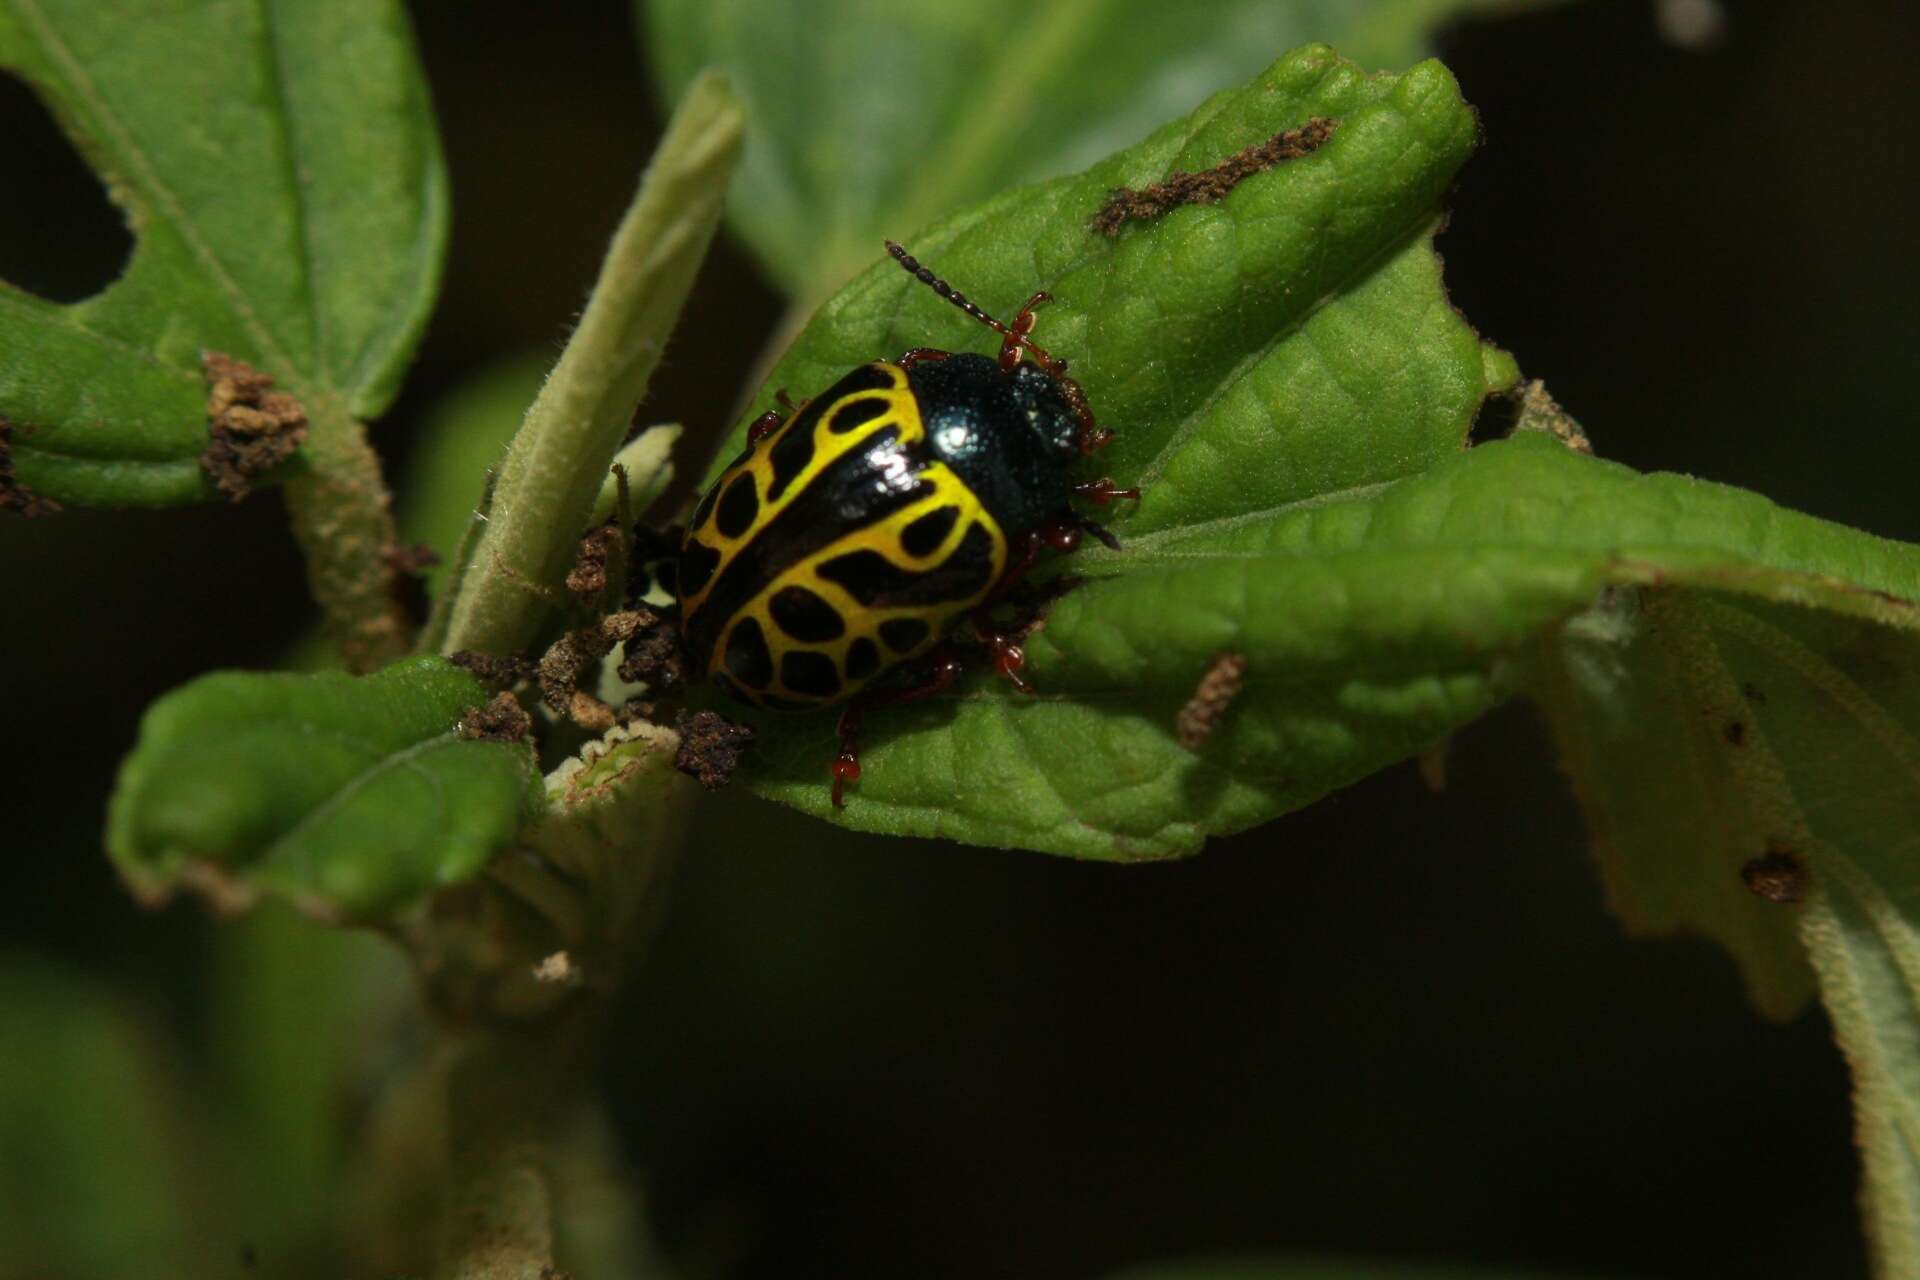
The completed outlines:
<svg viewBox="0 0 1920 1280">
<path fill-rule="evenodd" d="M 1455 305 L 1601 455 L 1920 539 L 1920 19 L 1726 10 L 1709 50 L 1620 0 L 1444 33 L 1486 134 L 1440 242 Z M 624 8 L 551 13 L 415 10 L 455 234 L 376 434 L 401 478 L 442 393 L 557 349 L 657 127 Z M 0 276 L 77 297 L 123 242 L 42 129 L 0 79 L 0 175 L 36 175 L 0 201 Z M 649 416 L 718 428 L 778 309 L 722 236 Z M 278 503 L 6 522 L 0 601 L 0 946 L 194 1046 L 217 925 L 134 908 L 100 814 L 150 699 L 307 626 Z M 1824 1017 L 1763 1023 L 1709 944 L 1622 936 L 1526 708 L 1457 737 L 1442 794 L 1394 768 L 1171 865 L 710 810 L 605 1071 L 659 1240 L 701 1274 L 1864 1274 Z"/>
</svg>

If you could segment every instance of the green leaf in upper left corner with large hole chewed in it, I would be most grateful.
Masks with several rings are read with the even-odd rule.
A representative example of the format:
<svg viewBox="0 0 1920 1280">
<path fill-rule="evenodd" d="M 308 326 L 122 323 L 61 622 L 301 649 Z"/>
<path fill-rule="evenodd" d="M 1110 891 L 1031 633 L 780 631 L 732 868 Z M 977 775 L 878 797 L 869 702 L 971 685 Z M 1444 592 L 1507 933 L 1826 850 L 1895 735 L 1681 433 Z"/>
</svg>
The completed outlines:
<svg viewBox="0 0 1920 1280">
<path fill-rule="evenodd" d="M 136 234 L 86 301 L 0 284 L 0 416 L 23 484 L 94 505 L 209 497 L 204 349 L 298 395 L 309 449 L 386 407 L 447 221 L 397 4 L 0 0 L 0 67 L 46 100 Z"/>
</svg>

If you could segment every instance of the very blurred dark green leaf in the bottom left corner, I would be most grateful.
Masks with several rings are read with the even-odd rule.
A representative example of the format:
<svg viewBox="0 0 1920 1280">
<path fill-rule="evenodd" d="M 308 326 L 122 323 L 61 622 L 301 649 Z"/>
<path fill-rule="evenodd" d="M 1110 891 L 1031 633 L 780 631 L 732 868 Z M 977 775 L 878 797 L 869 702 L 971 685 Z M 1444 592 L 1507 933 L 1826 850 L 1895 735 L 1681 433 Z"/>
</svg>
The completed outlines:
<svg viewBox="0 0 1920 1280">
<path fill-rule="evenodd" d="M 8 956 L 0 1044 L 0 1276 L 238 1267 L 238 1234 L 207 1234 L 204 1134 L 131 1009 L 71 973 Z"/>
</svg>

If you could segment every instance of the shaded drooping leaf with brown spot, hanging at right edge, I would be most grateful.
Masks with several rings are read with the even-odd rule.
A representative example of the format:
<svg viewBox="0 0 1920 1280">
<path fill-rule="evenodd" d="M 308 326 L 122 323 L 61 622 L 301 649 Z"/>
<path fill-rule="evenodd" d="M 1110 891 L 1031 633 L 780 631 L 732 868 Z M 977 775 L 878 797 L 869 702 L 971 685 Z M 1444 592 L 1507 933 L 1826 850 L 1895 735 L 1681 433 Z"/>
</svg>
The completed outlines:
<svg viewBox="0 0 1920 1280">
<path fill-rule="evenodd" d="M 1845 568 L 1872 583 L 1866 543 Z M 1542 681 L 1630 923 L 1716 936 L 1776 1015 L 1805 994 L 1807 944 L 1853 1067 L 1884 1276 L 1920 1274 L 1916 626 L 1832 580 L 1793 604 L 1663 591 L 1571 637 Z"/>
</svg>

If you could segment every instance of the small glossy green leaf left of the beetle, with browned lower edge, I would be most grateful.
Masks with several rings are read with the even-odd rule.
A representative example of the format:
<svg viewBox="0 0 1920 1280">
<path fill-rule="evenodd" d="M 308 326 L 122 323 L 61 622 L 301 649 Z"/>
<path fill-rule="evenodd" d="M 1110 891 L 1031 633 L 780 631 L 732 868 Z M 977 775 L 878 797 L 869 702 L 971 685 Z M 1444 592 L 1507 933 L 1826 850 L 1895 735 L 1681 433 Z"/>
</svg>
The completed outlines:
<svg viewBox="0 0 1920 1280">
<path fill-rule="evenodd" d="M 326 919 L 392 915 L 472 877 L 534 806 L 532 748 L 455 729 L 486 700 L 440 658 L 196 679 L 140 722 L 108 852 L 144 898 L 186 885 L 223 906 L 271 892 Z"/>
</svg>

